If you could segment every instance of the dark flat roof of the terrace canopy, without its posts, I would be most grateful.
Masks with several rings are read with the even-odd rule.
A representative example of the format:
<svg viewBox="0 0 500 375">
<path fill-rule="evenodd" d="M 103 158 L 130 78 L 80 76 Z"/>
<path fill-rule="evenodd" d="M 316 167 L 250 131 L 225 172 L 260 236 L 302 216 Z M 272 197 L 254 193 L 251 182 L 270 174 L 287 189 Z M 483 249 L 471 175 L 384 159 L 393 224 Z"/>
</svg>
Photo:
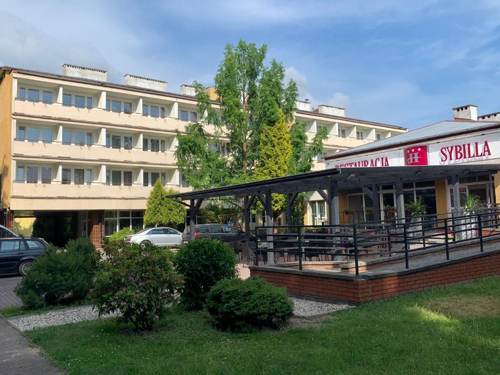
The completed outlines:
<svg viewBox="0 0 500 375">
<path fill-rule="evenodd" d="M 485 173 L 493 174 L 497 173 L 499 169 L 500 164 L 341 167 L 170 194 L 168 197 L 181 200 L 213 198 L 227 195 L 242 197 L 263 193 L 265 190 L 271 190 L 276 193 L 294 193 L 313 191 L 317 188 L 328 189 L 331 182 L 336 182 L 338 189 L 344 190 L 362 185 L 393 184 L 398 181 L 418 182 L 445 179 L 452 175 L 472 176 Z"/>
</svg>

